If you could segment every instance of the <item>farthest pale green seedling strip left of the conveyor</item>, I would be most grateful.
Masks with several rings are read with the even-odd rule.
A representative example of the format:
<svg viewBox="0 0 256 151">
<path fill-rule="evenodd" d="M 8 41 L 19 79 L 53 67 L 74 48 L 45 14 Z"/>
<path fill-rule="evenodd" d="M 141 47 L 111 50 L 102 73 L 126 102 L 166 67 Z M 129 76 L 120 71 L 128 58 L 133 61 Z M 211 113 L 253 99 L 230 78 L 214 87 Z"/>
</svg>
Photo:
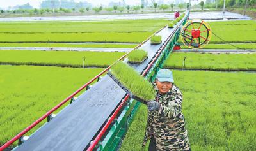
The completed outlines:
<svg viewBox="0 0 256 151">
<path fill-rule="evenodd" d="M 1 22 L 0 33 L 155 32 L 167 23 L 168 20 Z"/>
</svg>

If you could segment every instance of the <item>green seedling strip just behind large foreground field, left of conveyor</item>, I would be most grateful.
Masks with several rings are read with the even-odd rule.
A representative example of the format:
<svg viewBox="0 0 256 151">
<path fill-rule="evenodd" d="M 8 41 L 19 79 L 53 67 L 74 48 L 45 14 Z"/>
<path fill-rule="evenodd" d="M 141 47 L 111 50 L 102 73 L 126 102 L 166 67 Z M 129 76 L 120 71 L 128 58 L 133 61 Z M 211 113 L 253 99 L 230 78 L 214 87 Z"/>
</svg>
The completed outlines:
<svg viewBox="0 0 256 151">
<path fill-rule="evenodd" d="M 0 64 L 83 67 L 83 57 L 85 57 L 85 66 L 106 67 L 124 54 L 124 52 L 0 50 Z"/>
</svg>

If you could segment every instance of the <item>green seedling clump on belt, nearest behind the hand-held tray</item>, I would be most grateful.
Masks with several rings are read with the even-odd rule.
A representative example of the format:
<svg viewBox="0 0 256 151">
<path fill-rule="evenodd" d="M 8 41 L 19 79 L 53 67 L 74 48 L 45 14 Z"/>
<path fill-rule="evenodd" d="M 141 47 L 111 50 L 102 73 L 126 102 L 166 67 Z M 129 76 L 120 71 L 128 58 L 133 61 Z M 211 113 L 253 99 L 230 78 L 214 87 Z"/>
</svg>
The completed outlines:
<svg viewBox="0 0 256 151">
<path fill-rule="evenodd" d="M 132 50 L 128 55 L 128 61 L 134 64 L 141 64 L 148 57 L 148 52 L 143 49 Z"/>
</svg>

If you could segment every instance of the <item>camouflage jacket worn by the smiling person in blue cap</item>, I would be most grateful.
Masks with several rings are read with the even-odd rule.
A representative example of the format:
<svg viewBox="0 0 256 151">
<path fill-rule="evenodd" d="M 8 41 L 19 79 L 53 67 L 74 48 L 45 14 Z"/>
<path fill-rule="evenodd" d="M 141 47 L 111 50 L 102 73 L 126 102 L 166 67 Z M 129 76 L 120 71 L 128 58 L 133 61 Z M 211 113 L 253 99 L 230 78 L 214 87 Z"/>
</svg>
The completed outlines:
<svg viewBox="0 0 256 151">
<path fill-rule="evenodd" d="M 166 94 L 159 94 L 156 83 L 156 101 L 159 110 L 148 112 L 147 127 L 143 145 L 154 135 L 157 150 L 189 150 L 188 132 L 185 128 L 182 109 L 182 94 L 174 84 Z M 158 99 L 157 99 L 158 97 Z"/>
</svg>

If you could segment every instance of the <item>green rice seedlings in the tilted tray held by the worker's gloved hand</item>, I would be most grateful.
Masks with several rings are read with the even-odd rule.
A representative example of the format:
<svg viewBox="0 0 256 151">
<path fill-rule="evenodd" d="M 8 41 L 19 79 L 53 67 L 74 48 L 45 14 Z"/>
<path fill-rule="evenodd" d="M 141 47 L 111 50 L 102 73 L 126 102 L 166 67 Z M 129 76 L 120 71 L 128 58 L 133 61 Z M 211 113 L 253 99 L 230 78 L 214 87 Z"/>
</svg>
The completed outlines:
<svg viewBox="0 0 256 151">
<path fill-rule="evenodd" d="M 133 68 L 124 62 L 117 62 L 111 67 L 111 74 L 114 75 L 134 96 L 146 101 L 155 97 L 155 90 L 150 82 L 139 75 Z"/>
</svg>

